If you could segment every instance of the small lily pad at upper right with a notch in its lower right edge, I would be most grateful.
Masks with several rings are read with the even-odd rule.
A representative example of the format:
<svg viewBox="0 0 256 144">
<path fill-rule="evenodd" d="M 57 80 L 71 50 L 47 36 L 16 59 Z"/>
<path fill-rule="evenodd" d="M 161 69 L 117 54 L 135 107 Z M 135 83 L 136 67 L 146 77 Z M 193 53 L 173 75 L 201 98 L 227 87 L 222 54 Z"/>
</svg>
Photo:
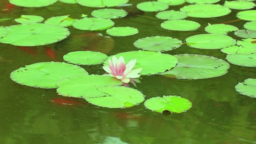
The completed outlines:
<svg viewBox="0 0 256 144">
<path fill-rule="evenodd" d="M 213 24 L 205 27 L 205 31 L 210 34 L 224 34 L 227 35 L 230 31 L 237 31 L 238 28 L 227 24 Z"/>
</svg>

